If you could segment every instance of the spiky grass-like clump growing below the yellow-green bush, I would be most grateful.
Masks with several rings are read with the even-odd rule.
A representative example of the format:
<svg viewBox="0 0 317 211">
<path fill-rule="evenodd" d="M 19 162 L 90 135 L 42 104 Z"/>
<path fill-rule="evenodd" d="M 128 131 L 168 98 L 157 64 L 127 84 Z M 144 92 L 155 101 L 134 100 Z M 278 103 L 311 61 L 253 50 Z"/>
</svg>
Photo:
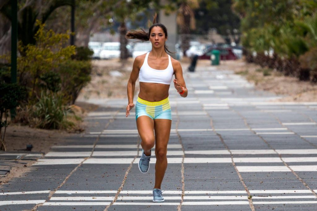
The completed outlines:
<svg viewBox="0 0 317 211">
<path fill-rule="evenodd" d="M 60 129 L 69 123 L 66 121 L 68 106 L 60 93 L 42 91 L 41 97 L 33 107 L 37 119 L 36 127 L 42 129 Z"/>
</svg>

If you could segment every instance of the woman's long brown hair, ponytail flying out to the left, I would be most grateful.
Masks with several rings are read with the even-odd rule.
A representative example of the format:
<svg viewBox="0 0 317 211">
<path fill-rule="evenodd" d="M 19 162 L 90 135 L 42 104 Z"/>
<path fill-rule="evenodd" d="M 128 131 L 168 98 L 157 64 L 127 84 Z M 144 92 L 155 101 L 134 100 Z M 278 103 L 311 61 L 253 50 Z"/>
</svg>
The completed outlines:
<svg viewBox="0 0 317 211">
<path fill-rule="evenodd" d="M 166 27 L 161 24 L 161 23 L 157 23 L 157 14 L 155 13 L 154 15 L 154 18 L 153 18 L 153 23 L 152 23 L 152 26 L 149 28 L 149 32 L 146 32 L 144 31 L 143 28 L 139 29 L 139 30 L 130 30 L 126 33 L 126 38 L 127 39 L 137 39 L 137 40 L 140 40 L 142 42 L 145 42 L 145 41 L 149 41 L 150 40 L 150 33 L 151 33 L 151 30 L 153 27 L 155 26 L 158 26 L 160 28 L 162 28 L 164 34 L 165 34 L 165 37 L 167 38 L 167 29 Z M 166 45 L 164 44 L 164 49 L 165 49 L 165 52 L 168 51 L 170 52 Z M 173 52 L 170 52 L 170 53 L 173 53 Z"/>
</svg>

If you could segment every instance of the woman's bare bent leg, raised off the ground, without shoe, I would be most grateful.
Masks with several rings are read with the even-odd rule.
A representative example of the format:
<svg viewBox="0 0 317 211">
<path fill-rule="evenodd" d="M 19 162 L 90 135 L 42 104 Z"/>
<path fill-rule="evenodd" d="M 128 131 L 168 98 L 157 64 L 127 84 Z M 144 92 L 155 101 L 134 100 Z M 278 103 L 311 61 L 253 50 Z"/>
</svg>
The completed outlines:
<svg viewBox="0 0 317 211">
<path fill-rule="evenodd" d="M 154 137 L 154 120 L 149 116 L 139 116 L 137 119 L 137 128 L 141 137 L 141 146 L 144 154 L 151 155 L 150 150 L 155 144 Z"/>
</svg>

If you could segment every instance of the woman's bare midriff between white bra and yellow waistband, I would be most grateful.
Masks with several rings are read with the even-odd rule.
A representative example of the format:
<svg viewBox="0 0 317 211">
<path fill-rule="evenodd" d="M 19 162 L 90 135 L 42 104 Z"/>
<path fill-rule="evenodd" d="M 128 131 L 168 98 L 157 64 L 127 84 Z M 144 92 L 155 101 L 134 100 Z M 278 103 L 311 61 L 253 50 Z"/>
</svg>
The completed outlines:
<svg viewBox="0 0 317 211">
<path fill-rule="evenodd" d="M 140 82 L 139 98 L 149 101 L 158 102 L 168 97 L 170 85 Z"/>
</svg>

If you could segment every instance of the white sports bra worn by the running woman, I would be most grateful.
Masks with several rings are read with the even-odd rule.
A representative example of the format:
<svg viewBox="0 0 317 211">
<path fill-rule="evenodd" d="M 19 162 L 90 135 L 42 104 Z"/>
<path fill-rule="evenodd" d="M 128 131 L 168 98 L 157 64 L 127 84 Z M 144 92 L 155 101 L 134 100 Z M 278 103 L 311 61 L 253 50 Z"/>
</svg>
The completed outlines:
<svg viewBox="0 0 317 211">
<path fill-rule="evenodd" d="M 150 52 L 149 52 L 150 53 Z M 174 69 L 171 62 L 171 56 L 168 55 L 168 66 L 165 70 L 156 70 L 150 67 L 147 63 L 149 53 L 146 53 L 143 65 L 139 72 L 139 82 L 171 84 Z"/>
</svg>

